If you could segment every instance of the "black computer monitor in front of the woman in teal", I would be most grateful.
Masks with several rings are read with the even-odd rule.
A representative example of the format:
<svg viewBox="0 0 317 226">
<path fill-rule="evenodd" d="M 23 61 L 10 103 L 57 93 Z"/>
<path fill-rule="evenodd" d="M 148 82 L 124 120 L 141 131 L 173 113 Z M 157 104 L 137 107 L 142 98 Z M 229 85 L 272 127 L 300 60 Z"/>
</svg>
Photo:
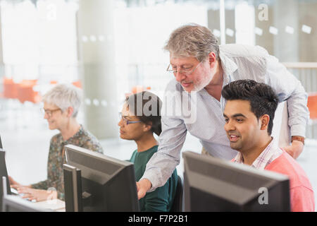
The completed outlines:
<svg viewBox="0 0 317 226">
<path fill-rule="evenodd" d="M 139 211 L 135 167 L 75 145 L 63 165 L 66 212 Z"/>
</svg>

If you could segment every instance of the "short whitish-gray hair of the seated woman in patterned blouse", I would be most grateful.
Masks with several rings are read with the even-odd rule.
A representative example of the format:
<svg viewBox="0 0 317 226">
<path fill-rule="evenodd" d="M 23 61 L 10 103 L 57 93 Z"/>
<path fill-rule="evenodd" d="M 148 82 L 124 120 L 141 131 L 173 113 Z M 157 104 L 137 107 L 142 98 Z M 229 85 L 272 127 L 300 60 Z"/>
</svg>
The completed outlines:
<svg viewBox="0 0 317 226">
<path fill-rule="evenodd" d="M 42 97 L 42 101 L 50 105 L 56 105 L 62 112 L 68 107 L 73 107 L 72 117 L 75 118 L 82 102 L 82 90 L 74 85 L 58 84 Z"/>
</svg>

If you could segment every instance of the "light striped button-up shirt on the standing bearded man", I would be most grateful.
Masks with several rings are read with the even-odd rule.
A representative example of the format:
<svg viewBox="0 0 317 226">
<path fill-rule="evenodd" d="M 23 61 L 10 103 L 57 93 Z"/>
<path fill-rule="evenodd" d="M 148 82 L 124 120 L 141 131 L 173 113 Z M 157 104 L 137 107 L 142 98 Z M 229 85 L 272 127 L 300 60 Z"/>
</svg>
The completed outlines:
<svg viewBox="0 0 317 226">
<path fill-rule="evenodd" d="M 287 100 L 291 135 L 305 136 L 306 123 L 309 119 L 309 111 L 306 107 L 307 93 L 297 78 L 287 71 L 278 59 L 269 55 L 262 47 L 242 44 L 220 46 L 219 57 L 223 68 L 223 86 L 240 79 L 252 79 L 271 85 L 280 102 Z M 182 86 L 175 78 L 168 83 L 166 93 L 183 92 Z M 159 150 L 147 163 L 147 169 L 142 177 L 151 182 L 152 187 L 149 191 L 163 186 L 179 164 L 187 131 L 199 138 L 203 147 L 214 157 L 232 160 L 237 155 L 237 151 L 230 148 L 223 128 L 225 125 L 223 97 L 219 102 L 205 89 L 192 93 L 195 95 L 193 102 L 196 109 L 194 122 L 186 121 L 184 115 L 164 116 L 162 113 Z M 189 94 L 189 99 L 192 93 Z M 163 108 L 175 109 L 175 105 L 178 105 L 180 100 L 179 98 L 173 102 L 164 99 Z"/>
</svg>

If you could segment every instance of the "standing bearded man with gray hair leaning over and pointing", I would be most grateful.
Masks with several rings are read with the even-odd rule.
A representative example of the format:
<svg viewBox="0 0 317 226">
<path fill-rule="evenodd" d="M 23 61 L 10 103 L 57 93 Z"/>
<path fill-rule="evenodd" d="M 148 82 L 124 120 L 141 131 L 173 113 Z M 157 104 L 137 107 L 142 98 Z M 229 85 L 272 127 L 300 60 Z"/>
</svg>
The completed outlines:
<svg viewBox="0 0 317 226">
<path fill-rule="evenodd" d="M 292 145 L 284 149 L 294 158 L 302 153 L 309 119 L 307 94 L 297 78 L 266 49 L 242 44 L 219 46 L 211 31 L 197 24 L 174 30 L 165 49 L 170 53 L 167 71 L 175 77 L 168 83 L 166 93 L 186 92 L 189 99 L 195 96 L 197 115 L 191 122 L 183 114 L 162 116 L 159 150 L 137 182 L 139 198 L 166 183 L 180 162 L 187 131 L 199 138 L 206 153 L 225 160 L 235 157 L 237 152 L 230 148 L 223 129 L 225 100 L 221 96 L 223 87 L 232 81 L 251 79 L 266 83 L 275 90 L 280 102 L 287 100 Z M 163 106 L 173 109 L 175 102 Z"/>
</svg>

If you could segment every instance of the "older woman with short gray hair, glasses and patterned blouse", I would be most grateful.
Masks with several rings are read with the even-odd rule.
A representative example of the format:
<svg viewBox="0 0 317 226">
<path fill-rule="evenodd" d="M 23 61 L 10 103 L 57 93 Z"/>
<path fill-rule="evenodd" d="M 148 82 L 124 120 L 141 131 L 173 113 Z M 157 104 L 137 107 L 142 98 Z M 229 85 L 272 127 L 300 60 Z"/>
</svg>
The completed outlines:
<svg viewBox="0 0 317 226">
<path fill-rule="evenodd" d="M 44 119 L 49 123 L 49 129 L 57 129 L 60 133 L 51 138 L 46 180 L 23 186 L 10 177 L 11 186 L 18 189 L 19 193 L 25 194 L 24 198 L 36 201 L 43 201 L 49 197 L 64 199 L 63 164 L 66 163 L 65 145 L 77 145 L 103 153 L 97 138 L 77 122 L 76 117 L 81 100 L 82 90 L 66 84 L 55 85 L 43 96 L 44 108 L 42 112 Z"/>
</svg>

